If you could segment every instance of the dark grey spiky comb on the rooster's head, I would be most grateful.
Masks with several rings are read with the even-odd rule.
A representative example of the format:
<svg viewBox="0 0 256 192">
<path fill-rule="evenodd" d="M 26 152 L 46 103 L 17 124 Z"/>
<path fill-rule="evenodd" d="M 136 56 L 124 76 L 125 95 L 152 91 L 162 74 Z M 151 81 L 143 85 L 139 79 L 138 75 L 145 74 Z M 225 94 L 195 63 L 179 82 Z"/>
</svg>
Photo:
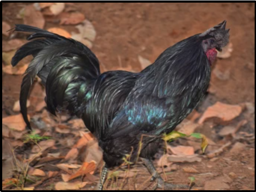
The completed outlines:
<svg viewBox="0 0 256 192">
<path fill-rule="evenodd" d="M 201 33 L 200 37 L 213 36 L 219 43 L 220 47 L 225 47 L 229 43 L 229 32 L 230 29 L 226 29 L 226 21 L 224 21 L 219 25 L 208 29 L 206 32 Z"/>
</svg>

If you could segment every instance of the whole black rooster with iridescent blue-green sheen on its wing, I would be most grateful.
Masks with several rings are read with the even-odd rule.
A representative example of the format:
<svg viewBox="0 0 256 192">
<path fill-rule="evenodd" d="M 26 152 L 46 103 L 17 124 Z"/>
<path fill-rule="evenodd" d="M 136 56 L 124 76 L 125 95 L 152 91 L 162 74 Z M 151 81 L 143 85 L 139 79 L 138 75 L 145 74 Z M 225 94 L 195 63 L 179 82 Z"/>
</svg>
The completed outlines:
<svg viewBox="0 0 256 192">
<path fill-rule="evenodd" d="M 67 110 L 84 120 L 99 140 L 108 168 L 142 159 L 157 181 L 156 188 L 174 189 L 164 183 L 151 158 L 164 133 L 171 133 L 204 97 L 217 51 L 229 42 L 226 21 L 168 48 L 156 62 L 140 73 L 110 71 L 100 74 L 100 64 L 88 47 L 72 39 L 28 25 L 15 31 L 32 33 L 33 40 L 17 51 L 15 66 L 28 55 L 33 61 L 22 82 L 20 104 L 27 126 L 26 101 L 30 87 L 39 76 L 46 87 L 46 102 L 52 114 Z M 142 139 L 143 145 L 139 145 Z"/>
</svg>

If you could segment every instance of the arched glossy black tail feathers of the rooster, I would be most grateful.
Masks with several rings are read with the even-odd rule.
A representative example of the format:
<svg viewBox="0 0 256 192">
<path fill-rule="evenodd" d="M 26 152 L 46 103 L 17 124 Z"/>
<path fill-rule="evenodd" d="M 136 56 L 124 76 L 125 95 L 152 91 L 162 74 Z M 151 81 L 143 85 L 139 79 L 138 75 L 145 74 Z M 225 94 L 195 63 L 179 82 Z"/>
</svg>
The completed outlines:
<svg viewBox="0 0 256 192">
<path fill-rule="evenodd" d="M 16 25 L 15 31 L 33 33 L 28 37 L 33 41 L 22 46 L 12 59 L 12 65 L 16 66 L 26 56 L 34 57 L 26 70 L 20 94 L 21 112 L 27 126 L 31 129 L 26 101 L 36 76 L 46 86 L 46 101 L 52 114 L 63 108 L 78 114 L 78 95 L 85 98 L 90 87 L 88 82 L 100 75 L 96 56 L 82 43 L 42 29 Z M 85 92 L 79 94 L 81 87 Z"/>
</svg>

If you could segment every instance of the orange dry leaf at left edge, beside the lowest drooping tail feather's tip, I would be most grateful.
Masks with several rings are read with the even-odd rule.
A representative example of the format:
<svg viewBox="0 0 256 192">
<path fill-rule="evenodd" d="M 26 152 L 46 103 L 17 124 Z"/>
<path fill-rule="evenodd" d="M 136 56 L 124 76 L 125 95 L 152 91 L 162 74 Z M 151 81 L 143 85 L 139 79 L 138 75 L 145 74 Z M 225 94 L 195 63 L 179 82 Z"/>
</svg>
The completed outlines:
<svg viewBox="0 0 256 192">
<path fill-rule="evenodd" d="M 24 131 L 26 129 L 26 123 L 24 122 L 21 114 L 2 119 L 2 124 L 17 131 Z"/>
</svg>

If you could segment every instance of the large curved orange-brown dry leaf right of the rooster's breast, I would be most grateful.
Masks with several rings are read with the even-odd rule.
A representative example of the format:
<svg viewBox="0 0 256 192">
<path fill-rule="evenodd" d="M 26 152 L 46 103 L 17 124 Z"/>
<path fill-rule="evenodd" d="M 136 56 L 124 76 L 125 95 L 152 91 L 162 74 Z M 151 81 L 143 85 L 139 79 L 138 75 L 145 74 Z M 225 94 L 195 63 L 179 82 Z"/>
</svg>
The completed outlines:
<svg viewBox="0 0 256 192">
<path fill-rule="evenodd" d="M 215 105 L 209 107 L 204 115 L 199 120 L 200 124 L 203 124 L 205 121 L 211 118 L 218 118 L 224 122 L 234 120 L 241 115 L 243 109 L 239 105 L 226 105 L 220 102 L 217 102 Z"/>
</svg>

